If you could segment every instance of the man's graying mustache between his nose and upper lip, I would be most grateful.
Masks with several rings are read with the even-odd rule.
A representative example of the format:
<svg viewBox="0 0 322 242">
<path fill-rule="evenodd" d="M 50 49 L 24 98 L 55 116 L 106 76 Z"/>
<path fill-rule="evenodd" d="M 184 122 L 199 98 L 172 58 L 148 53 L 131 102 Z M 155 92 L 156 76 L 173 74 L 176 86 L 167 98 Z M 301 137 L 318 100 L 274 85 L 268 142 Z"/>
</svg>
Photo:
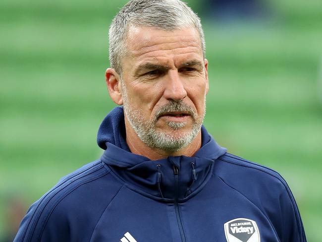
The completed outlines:
<svg viewBox="0 0 322 242">
<path fill-rule="evenodd" d="M 193 108 L 191 108 L 189 105 L 185 104 L 183 101 L 170 101 L 169 103 L 165 104 L 161 108 L 159 108 L 156 112 L 156 119 L 158 119 L 160 116 L 165 115 L 170 112 L 180 112 L 185 113 L 190 116 L 192 116 L 193 119 L 197 118 L 197 114 Z"/>
</svg>

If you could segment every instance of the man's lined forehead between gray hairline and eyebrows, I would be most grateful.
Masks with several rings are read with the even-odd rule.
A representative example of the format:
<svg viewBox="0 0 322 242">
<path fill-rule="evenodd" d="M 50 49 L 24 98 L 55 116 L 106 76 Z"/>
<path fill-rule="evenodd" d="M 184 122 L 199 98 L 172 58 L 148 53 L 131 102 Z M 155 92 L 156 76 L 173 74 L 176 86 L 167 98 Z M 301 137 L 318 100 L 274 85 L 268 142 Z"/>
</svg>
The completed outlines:
<svg viewBox="0 0 322 242">
<path fill-rule="evenodd" d="M 127 57 L 133 61 L 203 59 L 200 36 L 193 27 L 167 31 L 155 27 L 131 26 L 126 45 Z"/>
</svg>

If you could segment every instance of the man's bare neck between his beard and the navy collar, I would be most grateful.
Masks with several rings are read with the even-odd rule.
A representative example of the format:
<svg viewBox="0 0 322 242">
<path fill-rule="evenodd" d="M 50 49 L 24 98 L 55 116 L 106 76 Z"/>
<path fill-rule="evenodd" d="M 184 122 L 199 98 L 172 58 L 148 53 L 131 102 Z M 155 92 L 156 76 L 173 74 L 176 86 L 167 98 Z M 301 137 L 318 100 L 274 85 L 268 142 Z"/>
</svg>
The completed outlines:
<svg viewBox="0 0 322 242">
<path fill-rule="evenodd" d="M 201 147 L 201 130 L 196 138 L 187 146 L 178 151 L 166 151 L 147 146 L 139 136 L 135 133 L 131 125 L 125 120 L 126 143 L 131 152 L 137 155 L 142 155 L 150 160 L 159 160 L 168 156 L 193 156 Z"/>
</svg>

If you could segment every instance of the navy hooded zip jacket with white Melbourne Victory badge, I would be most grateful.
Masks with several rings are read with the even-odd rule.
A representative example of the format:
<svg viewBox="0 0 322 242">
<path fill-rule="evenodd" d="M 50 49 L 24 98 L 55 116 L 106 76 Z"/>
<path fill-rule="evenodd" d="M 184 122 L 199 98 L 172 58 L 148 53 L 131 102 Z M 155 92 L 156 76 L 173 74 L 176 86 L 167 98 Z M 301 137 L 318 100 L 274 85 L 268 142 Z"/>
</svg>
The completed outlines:
<svg viewBox="0 0 322 242">
<path fill-rule="evenodd" d="M 193 157 L 130 152 L 123 109 L 102 122 L 102 157 L 36 201 L 14 242 L 306 242 L 274 171 L 226 153 L 202 127 Z"/>
</svg>

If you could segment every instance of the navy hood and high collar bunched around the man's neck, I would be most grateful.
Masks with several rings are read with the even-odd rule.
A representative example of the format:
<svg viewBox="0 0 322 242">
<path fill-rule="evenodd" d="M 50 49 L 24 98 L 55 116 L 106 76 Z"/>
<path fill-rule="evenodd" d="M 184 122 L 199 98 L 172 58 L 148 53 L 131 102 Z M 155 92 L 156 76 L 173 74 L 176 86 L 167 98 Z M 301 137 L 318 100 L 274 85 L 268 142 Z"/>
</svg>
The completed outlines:
<svg viewBox="0 0 322 242">
<path fill-rule="evenodd" d="M 116 107 L 103 120 L 97 142 L 105 149 L 101 160 L 127 187 L 153 199 L 173 202 L 177 197 L 180 202 L 206 185 L 215 160 L 227 151 L 215 142 L 204 126 L 201 132 L 202 146 L 193 157 L 150 160 L 130 152 L 125 138 L 123 108 Z"/>
</svg>

